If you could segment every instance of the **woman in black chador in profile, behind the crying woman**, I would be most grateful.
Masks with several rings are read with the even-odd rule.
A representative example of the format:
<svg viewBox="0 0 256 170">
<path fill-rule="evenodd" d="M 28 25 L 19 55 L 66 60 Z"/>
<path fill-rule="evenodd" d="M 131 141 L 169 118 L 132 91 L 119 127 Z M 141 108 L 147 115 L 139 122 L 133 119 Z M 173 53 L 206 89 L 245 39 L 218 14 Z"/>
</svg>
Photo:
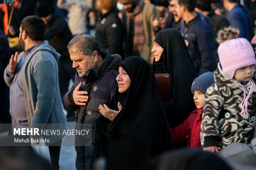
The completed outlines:
<svg viewBox="0 0 256 170">
<path fill-rule="evenodd" d="M 197 77 L 186 44 L 178 30 L 168 28 L 159 31 L 154 40 L 155 73 L 168 73 L 172 86 L 169 102 L 164 103 L 170 127 L 178 126 L 196 109 L 191 85 Z"/>
</svg>

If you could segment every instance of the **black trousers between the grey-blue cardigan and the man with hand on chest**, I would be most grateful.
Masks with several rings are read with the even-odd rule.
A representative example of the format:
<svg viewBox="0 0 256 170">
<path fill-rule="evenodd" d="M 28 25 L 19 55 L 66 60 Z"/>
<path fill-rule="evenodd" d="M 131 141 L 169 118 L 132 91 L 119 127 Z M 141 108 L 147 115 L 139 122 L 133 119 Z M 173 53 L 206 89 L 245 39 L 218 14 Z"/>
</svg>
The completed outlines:
<svg viewBox="0 0 256 170">
<path fill-rule="evenodd" d="M 58 61 L 58 67 L 59 67 L 59 91 L 62 98 L 62 103 L 64 106 L 64 109 L 68 111 L 68 115 L 73 114 L 74 112 L 67 109 L 64 105 L 63 98 L 66 92 L 69 90 L 69 81 L 72 79 L 74 81 L 76 69 L 72 68 L 72 61 L 68 58 L 64 61 Z"/>
</svg>

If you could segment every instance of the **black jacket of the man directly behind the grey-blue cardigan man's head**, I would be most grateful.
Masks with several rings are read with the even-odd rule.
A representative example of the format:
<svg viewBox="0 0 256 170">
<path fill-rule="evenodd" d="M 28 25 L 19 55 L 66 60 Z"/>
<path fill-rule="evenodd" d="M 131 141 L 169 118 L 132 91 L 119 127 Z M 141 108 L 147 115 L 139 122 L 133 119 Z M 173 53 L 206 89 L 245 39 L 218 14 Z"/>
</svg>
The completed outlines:
<svg viewBox="0 0 256 170">
<path fill-rule="evenodd" d="M 50 46 L 61 54 L 59 60 L 69 59 L 67 45 L 72 37 L 64 17 L 55 12 L 49 23 L 45 25 L 45 40 L 48 40 Z"/>
</svg>

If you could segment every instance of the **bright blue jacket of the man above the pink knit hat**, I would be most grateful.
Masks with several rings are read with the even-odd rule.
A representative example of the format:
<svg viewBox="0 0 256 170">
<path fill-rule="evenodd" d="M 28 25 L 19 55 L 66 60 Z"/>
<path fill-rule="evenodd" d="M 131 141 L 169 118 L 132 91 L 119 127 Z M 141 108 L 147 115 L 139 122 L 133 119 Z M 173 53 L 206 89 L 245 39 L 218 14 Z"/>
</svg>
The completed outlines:
<svg viewBox="0 0 256 170">
<path fill-rule="evenodd" d="M 239 29 L 240 33 L 238 37 L 246 38 L 250 42 L 248 21 L 242 8 L 239 7 L 239 5 L 236 5 L 230 12 L 228 12 L 226 17 L 231 26 Z"/>
</svg>

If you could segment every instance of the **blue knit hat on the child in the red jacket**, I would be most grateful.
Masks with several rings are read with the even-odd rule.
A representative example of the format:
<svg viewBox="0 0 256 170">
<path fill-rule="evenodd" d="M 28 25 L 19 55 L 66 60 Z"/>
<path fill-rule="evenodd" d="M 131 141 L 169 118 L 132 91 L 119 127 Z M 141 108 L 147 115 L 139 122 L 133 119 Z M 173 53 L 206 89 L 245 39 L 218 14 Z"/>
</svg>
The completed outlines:
<svg viewBox="0 0 256 170">
<path fill-rule="evenodd" d="M 200 91 L 201 93 L 206 92 L 206 89 L 211 86 L 214 83 L 214 77 L 213 72 L 206 72 L 196 79 L 194 79 L 192 86 L 191 86 L 191 92 L 194 91 Z"/>
</svg>

